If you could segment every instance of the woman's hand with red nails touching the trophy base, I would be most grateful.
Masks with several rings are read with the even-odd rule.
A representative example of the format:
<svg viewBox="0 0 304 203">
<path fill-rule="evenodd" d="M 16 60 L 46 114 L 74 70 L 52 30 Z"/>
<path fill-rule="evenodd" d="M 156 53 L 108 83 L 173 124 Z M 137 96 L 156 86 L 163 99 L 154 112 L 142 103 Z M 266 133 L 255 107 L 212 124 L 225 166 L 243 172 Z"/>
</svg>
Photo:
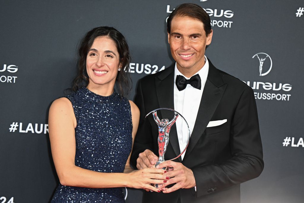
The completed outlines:
<svg viewBox="0 0 304 203">
<path fill-rule="evenodd" d="M 160 188 L 155 188 L 150 184 L 166 183 L 169 177 L 163 176 L 164 173 L 166 173 L 165 170 L 156 168 L 144 168 L 140 170 L 135 170 L 131 173 L 128 173 L 128 175 L 130 175 L 128 187 L 142 188 L 146 191 L 148 190 L 160 192 Z"/>
</svg>

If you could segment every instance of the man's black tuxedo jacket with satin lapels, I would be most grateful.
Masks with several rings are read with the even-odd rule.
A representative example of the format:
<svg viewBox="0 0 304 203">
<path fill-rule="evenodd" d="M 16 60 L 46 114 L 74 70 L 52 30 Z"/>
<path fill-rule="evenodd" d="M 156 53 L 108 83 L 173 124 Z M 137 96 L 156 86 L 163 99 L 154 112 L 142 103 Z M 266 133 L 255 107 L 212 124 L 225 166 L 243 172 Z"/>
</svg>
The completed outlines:
<svg viewBox="0 0 304 203">
<path fill-rule="evenodd" d="M 209 59 L 208 59 L 209 60 Z M 135 104 L 140 109 L 140 123 L 134 141 L 131 162 L 136 166 L 139 153 L 150 149 L 158 155 L 157 125 L 152 115 L 157 108 L 174 109 L 174 66 L 148 75 L 138 82 Z M 173 117 L 161 111 L 160 118 Z M 209 121 L 227 119 L 214 127 Z M 180 154 L 175 125 L 169 134 L 165 160 Z M 202 94 L 195 126 L 183 160 L 192 169 L 194 188 L 169 194 L 144 192 L 143 202 L 240 202 L 240 183 L 260 175 L 264 168 L 261 136 L 254 93 L 239 79 L 216 69 L 209 61 L 209 73 Z"/>
</svg>

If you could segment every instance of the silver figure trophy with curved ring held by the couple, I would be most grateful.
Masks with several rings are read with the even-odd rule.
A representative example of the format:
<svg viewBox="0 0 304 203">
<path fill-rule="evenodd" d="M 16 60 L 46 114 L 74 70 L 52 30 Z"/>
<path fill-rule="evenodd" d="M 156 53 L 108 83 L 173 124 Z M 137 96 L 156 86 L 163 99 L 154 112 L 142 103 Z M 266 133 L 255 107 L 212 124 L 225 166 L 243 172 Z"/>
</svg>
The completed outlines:
<svg viewBox="0 0 304 203">
<path fill-rule="evenodd" d="M 174 116 L 173 118 L 169 121 L 169 119 L 159 119 L 158 116 L 157 116 L 157 110 L 161 110 L 161 109 L 164 109 L 164 110 L 169 110 L 169 111 L 173 111 L 174 112 Z M 166 153 L 166 150 L 167 150 L 167 146 L 168 146 L 168 143 L 169 143 L 169 132 L 170 132 L 170 129 L 171 127 L 173 126 L 173 124 L 176 122 L 176 120 L 178 119 L 178 117 L 181 117 L 183 119 L 183 122 L 186 124 L 187 126 L 187 130 L 188 130 L 188 141 L 187 141 L 187 145 L 185 147 L 185 149 L 181 152 L 180 155 L 178 155 L 177 157 L 175 158 L 172 158 L 168 161 L 172 161 L 178 157 L 180 157 L 187 149 L 188 147 L 188 144 L 189 144 L 189 140 L 190 140 L 190 129 L 189 129 L 189 126 L 188 126 L 188 123 L 187 121 L 185 120 L 185 118 L 180 114 L 178 113 L 177 111 L 173 110 L 173 109 L 168 109 L 168 108 L 159 108 L 159 109 L 154 109 L 153 111 L 149 112 L 146 117 L 152 113 L 153 115 L 153 118 L 154 118 L 154 121 L 155 123 L 157 124 L 158 126 L 158 139 L 157 139 L 157 143 L 158 143 L 158 154 L 159 154 L 159 158 L 158 158 L 158 161 L 156 162 L 155 166 L 159 165 L 161 162 L 164 162 L 164 155 Z M 163 168 L 164 170 L 168 170 L 168 167 L 166 168 Z M 154 187 L 158 187 L 158 184 L 152 184 Z"/>
</svg>

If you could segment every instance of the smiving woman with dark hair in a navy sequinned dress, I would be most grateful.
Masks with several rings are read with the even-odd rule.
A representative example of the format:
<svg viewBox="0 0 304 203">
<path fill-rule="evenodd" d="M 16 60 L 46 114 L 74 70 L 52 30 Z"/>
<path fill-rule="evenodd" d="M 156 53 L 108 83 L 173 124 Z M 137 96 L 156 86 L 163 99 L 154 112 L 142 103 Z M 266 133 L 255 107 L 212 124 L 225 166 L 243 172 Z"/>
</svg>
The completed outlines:
<svg viewBox="0 0 304 203">
<path fill-rule="evenodd" d="M 119 187 L 160 192 L 150 183 L 166 182 L 164 170 L 130 168 L 139 109 L 123 97 L 130 63 L 125 38 L 112 27 L 94 28 L 79 55 L 75 92 L 55 100 L 49 112 L 60 180 L 51 202 L 124 202 Z M 122 96 L 114 89 L 116 80 Z"/>
</svg>

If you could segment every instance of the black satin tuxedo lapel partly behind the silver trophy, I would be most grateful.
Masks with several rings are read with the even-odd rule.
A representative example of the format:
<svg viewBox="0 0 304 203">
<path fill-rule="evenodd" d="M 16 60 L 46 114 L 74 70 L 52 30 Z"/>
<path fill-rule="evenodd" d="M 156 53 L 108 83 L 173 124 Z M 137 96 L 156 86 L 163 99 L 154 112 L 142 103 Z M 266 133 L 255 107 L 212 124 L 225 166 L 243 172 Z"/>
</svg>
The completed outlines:
<svg viewBox="0 0 304 203">
<path fill-rule="evenodd" d="M 174 67 L 175 63 L 155 78 L 155 87 L 159 108 L 174 109 Z M 158 115 L 161 115 L 159 116 L 160 119 L 168 119 L 170 121 L 174 116 L 174 112 L 169 110 L 161 110 L 161 114 Z M 178 156 L 181 152 L 179 149 L 176 125 L 171 127 L 169 133 L 169 144 L 171 144 L 176 156 Z M 181 162 L 180 157 L 178 160 Z"/>
</svg>

